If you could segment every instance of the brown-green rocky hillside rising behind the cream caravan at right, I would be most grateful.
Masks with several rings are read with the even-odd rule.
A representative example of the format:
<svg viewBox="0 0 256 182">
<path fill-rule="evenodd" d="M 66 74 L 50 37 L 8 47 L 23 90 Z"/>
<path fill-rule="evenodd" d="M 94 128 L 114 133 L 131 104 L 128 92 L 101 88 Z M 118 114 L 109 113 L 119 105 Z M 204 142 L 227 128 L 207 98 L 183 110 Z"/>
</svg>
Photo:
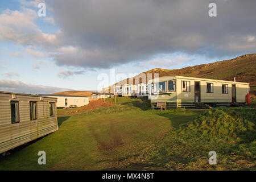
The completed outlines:
<svg viewBox="0 0 256 182">
<path fill-rule="evenodd" d="M 256 85 L 256 53 L 242 55 L 230 60 L 217 61 L 215 63 L 200 64 L 181 69 L 155 68 L 143 73 L 159 73 L 161 76 L 190 76 L 201 78 L 213 78 L 218 80 L 249 82 L 250 86 Z M 139 77 L 139 75 L 134 78 Z M 126 80 L 123 80 L 126 81 Z"/>
</svg>

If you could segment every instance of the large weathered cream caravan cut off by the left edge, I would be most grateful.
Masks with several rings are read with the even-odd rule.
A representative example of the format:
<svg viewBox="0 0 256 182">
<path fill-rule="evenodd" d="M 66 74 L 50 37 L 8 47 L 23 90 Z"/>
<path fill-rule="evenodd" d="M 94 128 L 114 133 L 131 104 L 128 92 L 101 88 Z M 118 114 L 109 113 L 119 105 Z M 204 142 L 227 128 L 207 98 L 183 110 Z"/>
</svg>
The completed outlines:
<svg viewBox="0 0 256 182">
<path fill-rule="evenodd" d="M 0 154 L 59 129 L 57 98 L 0 92 Z"/>
</svg>

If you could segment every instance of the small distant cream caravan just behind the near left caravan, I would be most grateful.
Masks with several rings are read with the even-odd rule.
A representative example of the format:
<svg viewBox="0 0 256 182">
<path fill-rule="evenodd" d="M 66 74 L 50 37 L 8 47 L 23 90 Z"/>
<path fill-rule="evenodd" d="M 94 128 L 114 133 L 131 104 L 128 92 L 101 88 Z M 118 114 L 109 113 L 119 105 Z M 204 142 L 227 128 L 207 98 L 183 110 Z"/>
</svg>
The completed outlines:
<svg viewBox="0 0 256 182">
<path fill-rule="evenodd" d="M 57 107 L 81 107 L 89 104 L 89 97 L 39 94 L 39 96 L 56 97 Z"/>
</svg>

